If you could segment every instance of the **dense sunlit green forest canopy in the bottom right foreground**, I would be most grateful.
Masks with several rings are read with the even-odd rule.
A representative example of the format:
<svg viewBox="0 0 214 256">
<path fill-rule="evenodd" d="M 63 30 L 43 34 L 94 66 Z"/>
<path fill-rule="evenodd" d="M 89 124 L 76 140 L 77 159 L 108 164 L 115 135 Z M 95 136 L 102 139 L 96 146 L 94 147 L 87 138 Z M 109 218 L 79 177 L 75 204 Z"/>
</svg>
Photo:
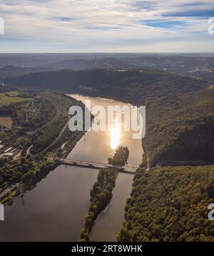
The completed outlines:
<svg viewBox="0 0 214 256">
<path fill-rule="evenodd" d="M 118 240 L 213 241 L 214 167 L 139 169 Z"/>
</svg>

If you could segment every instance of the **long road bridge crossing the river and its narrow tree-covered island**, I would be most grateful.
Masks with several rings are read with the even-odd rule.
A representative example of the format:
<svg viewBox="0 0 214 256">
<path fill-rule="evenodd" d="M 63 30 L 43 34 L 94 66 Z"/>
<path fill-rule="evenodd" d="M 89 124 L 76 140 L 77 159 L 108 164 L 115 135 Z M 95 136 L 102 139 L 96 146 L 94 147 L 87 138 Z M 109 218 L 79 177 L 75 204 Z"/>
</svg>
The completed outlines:
<svg viewBox="0 0 214 256">
<path fill-rule="evenodd" d="M 76 167 L 85 167 L 85 168 L 91 168 L 91 169 L 103 169 L 103 168 L 116 168 L 119 172 L 125 172 L 128 174 L 135 174 L 138 167 L 133 167 L 130 165 L 126 166 L 113 166 L 112 164 L 106 164 L 103 162 L 88 162 L 88 161 L 81 161 L 81 160 L 74 160 L 74 159 L 62 159 L 57 158 L 56 159 L 61 164 L 65 165 L 72 165 Z"/>
</svg>

